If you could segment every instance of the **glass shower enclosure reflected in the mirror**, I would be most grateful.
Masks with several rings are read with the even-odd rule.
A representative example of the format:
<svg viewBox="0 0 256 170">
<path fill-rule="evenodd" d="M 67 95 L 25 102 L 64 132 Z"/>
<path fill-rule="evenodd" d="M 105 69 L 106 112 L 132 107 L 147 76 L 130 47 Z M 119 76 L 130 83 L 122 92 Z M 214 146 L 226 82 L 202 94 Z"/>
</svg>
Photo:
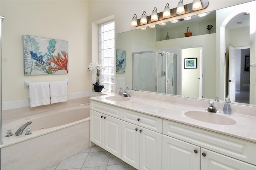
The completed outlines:
<svg viewBox="0 0 256 170">
<path fill-rule="evenodd" d="M 132 53 L 132 88 L 176 95 L 177 55 L 166 51 Z"/>
</svg>

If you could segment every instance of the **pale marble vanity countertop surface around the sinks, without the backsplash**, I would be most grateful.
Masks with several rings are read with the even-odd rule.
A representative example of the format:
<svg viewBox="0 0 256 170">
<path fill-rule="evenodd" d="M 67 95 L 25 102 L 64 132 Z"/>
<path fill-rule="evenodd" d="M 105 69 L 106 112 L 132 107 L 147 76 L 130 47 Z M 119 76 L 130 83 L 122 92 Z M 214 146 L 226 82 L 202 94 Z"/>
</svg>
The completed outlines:
<svg viewBox="0 0 256 170">
<path fill-rule="evenodd" d="M 116 96 L 119 96 L 115 94 Z M 111 95 L 113 96 L 113 95 Z M 194 107 L 191 105 L 183 105 L 179 103 L 171 103 L 167 101 L 159 101 L 154 99 L 148 99 L 144 97 L 129 97 L 129 101 L 111 101 L 106 99 L 109 95 L 102 95 L 98 97 L 91 97 L 90 100 L 107 103 L 110 105 L 118 106 L 123 109 L 129 109 L 183 123 L 193 127 L 198 127 L 221 134 L 237 137 L 240 139 L 256 142 L 256 117 L 250 115 L 242 115 L 238 113 L 231 113 L 230 115 L 224 114 L 223 111 L 219 115 L 229 117 L 236 121 L 235 125 L 216 125 L 212 123 L 206 123 L 191 119 L 185 115 L 187 111 L 205 111 L 206 108 Z M 218 114 L 218 113 L 212 113 Z"/>
</svg>

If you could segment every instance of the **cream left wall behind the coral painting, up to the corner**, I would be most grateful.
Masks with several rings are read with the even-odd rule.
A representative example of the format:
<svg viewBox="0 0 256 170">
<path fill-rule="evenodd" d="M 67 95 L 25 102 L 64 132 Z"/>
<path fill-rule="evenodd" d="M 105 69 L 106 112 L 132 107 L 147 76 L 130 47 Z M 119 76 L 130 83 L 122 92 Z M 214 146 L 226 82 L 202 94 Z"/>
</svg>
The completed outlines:
<svg viewBox="0 0 256 170">
<path fill-rule="evenodd" d="M 27 99 L 24 81 L 68 79 L 68 93 L 88 91 L 88 1 L 1 0 L 2 102 Z M 68 41 L 69 73 L 24 76 L 23 35 Z"/>
</svg>

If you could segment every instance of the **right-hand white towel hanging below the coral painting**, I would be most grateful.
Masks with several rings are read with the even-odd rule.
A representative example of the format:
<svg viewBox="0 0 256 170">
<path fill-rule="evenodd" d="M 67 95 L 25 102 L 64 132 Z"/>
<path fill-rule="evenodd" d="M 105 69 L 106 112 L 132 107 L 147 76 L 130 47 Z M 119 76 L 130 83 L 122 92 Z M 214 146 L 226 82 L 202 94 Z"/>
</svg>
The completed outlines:
<svg viewBox="0 0 256 170">
<path fill-rule="evenodd" d="M 58 103 L 68 101 L 68 82 L 62 81 L 50 81 L 50 96 L 51 103 Z"/>
</svg>

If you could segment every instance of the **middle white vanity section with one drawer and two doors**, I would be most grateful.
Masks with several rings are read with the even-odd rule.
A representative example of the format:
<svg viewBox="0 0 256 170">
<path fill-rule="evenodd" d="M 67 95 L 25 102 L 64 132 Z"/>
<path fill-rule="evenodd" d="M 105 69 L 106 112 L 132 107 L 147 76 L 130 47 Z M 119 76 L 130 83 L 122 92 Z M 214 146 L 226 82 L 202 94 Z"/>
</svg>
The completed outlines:
<svg viewBox="0 0 256 170">
<path fill-rule="evenodd" d="M 161 170 L 162 119 L 127 109 L 122 113 L 122 160 L 139 170 Z"/>
</svg>

